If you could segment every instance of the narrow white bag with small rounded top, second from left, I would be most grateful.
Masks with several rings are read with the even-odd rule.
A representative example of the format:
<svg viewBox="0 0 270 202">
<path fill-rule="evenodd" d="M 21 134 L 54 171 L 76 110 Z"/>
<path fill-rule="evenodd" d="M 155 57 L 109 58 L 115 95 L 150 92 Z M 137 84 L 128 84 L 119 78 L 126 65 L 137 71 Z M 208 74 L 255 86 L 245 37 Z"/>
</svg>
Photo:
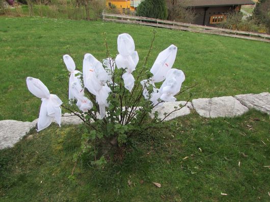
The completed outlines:
<svg viewBox="0 0 270 202">
<path fill-rule="evenodd" d="M 75 95 L 72 93 L 72 87 L 71 87 L 72 83 L 76 82 L 82 86 L 80 79 L 79 79 L 80 75 L 77 75 L 80 73 L 80 71 L 75 70 L 76 66 L 75 66 L 75 63 L 74 63 L 71 56 L 66 54 L 63 56 L 63 60 L 64 60 L 64 63 L 66 65 L 68 71 L 70 72 L 68 99 L 71 101 L 71 100 L 74 100 L 74 98 L 75 98 Z"/>
</svg>

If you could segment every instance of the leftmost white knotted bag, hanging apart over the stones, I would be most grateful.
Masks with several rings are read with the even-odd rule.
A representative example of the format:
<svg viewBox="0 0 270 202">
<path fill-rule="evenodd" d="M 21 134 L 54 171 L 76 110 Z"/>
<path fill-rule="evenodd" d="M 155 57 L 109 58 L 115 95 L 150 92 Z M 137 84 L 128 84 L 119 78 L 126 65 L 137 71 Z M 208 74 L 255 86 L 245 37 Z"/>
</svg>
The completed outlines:
<svg viewBox="0 0 270 202">
<path fill-rule="evenodd" d="M 41 98 L 41 107 L 38 119 L 38 131 L 47 128 L 53 118 L 61 126 L 61 107 L 63 103 L 57 95 L 50 94 L 47 87 L 37 78 L 27 77 L 28 90 L 38 98 Z"/>
</svg>

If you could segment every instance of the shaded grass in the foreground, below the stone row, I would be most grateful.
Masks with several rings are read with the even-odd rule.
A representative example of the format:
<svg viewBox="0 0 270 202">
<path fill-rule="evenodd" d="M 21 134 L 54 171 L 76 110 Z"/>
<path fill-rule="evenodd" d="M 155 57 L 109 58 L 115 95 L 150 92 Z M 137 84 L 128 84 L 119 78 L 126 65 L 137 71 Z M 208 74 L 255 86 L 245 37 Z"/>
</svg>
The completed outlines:
<svg viewBox="0 0 270 202">
<path fill-rule="evenodd" d="M 269 116 L 191 114 L 162 126 L 170 130 L 129 139 L 103 168 L 79 162 L 73 181 L 79 128 L 33 131 L 0 151 L 0 201 L 269 201 Z"/>
</svg>

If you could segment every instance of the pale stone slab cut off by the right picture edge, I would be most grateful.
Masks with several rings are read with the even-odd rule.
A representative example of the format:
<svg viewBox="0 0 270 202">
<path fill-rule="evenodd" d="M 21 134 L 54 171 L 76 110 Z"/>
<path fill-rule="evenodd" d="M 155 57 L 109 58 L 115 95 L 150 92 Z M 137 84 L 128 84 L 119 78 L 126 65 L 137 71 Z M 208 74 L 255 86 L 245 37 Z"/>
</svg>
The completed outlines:
<svg viewBox="0 0 270 202">
<path fill-rule="evenodd" d="M 270 93 L 236 95 L 235 98 L 249 109 L 255 108 L 270 115 Z"/>
</svg>

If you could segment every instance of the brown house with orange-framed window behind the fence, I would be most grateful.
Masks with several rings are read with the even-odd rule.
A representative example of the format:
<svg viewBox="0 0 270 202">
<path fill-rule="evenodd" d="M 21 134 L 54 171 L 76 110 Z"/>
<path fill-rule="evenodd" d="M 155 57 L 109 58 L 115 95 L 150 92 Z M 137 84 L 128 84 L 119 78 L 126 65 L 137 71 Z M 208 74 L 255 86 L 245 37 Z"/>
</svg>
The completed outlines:
<svg viewBox="0 0 270 202">
<path fill-rule="evenodd" d="M 226 20 L 228 12 L 239 12 L 241 5 L 255 4 L 251 0 L 188 0 L 185 5 L 194 8 L 195 24 L 215 26 Z"/>
</svg>

